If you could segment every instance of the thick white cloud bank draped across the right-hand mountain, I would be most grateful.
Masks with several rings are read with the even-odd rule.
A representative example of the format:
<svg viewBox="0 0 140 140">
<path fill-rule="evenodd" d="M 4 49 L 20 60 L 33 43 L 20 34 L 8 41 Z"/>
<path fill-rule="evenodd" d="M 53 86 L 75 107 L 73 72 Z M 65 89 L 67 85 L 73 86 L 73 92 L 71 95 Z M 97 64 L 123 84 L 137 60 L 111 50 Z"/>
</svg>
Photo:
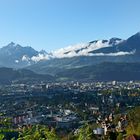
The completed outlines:
<svg viewBox="0 0 140 140">
<path fill-rule="evenodd" d="M 116 43 L 118 44 L 119 42 L 122 42 L 122 40 L 117 41 Z M 131 52 L 120 51 L 116 53 L 94 53 L 95 50 L 106 47 L 112 47 L 112 45 L 109 44 L 109 41 L 103 42 L 102 40 L 99 40 L 94 43 L 77 44 L 61 48 L 53 52 L 52 58 L 71 58 L 75 56 L 123 56 L 135 53 L 135 50 Z"/>
</svg>

